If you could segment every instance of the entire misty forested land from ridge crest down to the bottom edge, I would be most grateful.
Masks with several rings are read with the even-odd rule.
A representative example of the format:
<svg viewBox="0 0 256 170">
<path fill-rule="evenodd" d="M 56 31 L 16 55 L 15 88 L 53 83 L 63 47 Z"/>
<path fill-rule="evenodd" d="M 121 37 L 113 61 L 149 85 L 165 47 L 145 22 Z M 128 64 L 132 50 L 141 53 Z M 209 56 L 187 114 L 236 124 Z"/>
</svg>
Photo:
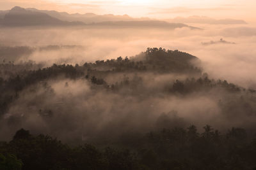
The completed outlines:
<svg viewBox="0 0 256 170">
<path fill-rule="evenodd" d="M 255 91 L 195 61 L 163 48 L 81 66 L 3 61 L 0 169 L 255 169 Z"/>
</svg>

